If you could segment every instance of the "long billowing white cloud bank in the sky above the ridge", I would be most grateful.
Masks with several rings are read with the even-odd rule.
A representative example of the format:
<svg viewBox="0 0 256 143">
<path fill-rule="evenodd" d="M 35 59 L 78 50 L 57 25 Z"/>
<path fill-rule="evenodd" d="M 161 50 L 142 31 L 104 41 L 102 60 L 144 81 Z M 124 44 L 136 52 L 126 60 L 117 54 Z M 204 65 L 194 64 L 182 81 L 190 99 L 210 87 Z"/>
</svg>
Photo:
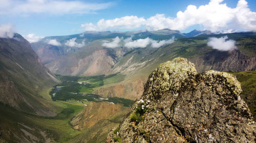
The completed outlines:
<svg viewBox="0 0 256 143">
<path fill-rule="evenodd" d="M 245 0 L 239 0 L 236 8 L 230 8 L 222 4 L 223 0 L 210 0 L 209 4 L 196 7 L 187 6 L 184 12 L 179 11 L 177 16 L 166 17 L 164 14 L 156 14 L 150 18 L 137 16 L 124 16 L 115 19 L 101 19 L 96 24 L 81 24 L 86 31 L 104 31 L 125 29 L 132 30 L 138 27 L 146 30 L 185 30 L 192 25 L 202 25 L 204 30 L 218 32 L 222 30 L 241 29 L 256 30 L 256 12 L 248 8 Z"/>
</svg>

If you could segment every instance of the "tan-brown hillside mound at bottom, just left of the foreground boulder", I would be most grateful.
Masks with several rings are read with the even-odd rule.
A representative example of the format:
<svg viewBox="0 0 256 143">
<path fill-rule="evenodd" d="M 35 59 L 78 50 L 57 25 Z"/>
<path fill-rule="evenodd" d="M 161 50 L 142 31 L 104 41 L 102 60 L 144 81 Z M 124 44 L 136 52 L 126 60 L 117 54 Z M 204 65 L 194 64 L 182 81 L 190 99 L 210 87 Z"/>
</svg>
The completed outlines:
<svg viewBox="0 0 256 143">
<path fill-rule="evenodd" d="M 69 142 L 104 142 L 128 109 L 120 104 L 91 102 L 70 122 L 74 129 L 82 133 Z"/>
</svg>

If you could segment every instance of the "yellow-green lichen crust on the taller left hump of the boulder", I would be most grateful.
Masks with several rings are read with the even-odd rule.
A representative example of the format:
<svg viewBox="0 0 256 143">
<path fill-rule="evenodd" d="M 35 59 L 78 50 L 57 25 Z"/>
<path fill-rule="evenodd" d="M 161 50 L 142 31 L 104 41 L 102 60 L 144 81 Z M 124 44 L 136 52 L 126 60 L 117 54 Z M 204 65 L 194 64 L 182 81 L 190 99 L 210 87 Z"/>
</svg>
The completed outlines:
<svg viewBox="0 0 256 143">
<path fill-rule="evenodd" d="M 162 97 L 169 90 L 179 91 L 187 84 L 187 79 L 197 74 L 195 65 L 184 58 L 175 58 L 173 61 L 160 64 L 150 75 L 148 84 L 152 85 L 152 93 L 156 99 Z"/>
</svg>

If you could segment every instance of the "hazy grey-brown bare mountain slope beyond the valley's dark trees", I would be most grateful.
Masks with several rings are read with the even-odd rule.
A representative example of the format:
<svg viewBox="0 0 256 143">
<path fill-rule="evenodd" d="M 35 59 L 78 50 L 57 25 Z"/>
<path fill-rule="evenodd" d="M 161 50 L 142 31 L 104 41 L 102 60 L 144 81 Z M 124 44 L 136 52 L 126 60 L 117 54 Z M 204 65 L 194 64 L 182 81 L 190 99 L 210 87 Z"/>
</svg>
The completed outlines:
<svg viewBox="0 0 256 143">
<path fill-rule="evenodd" d="M 123 51 L 121 48 L 106 49 L 101 44 L 101 41 L 95 40 L 72 54 L 60 56 L 46 67 L 61 75 L 107 74 Z"/>
</svg>

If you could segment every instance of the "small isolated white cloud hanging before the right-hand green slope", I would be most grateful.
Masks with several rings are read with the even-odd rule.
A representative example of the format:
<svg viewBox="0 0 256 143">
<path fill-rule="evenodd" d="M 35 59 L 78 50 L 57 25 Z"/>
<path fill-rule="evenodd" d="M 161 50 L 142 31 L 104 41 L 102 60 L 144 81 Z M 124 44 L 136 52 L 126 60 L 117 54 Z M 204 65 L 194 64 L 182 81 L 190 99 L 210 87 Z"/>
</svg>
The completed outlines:
<svg viewBox="0 0 256 143">
<path fill-rule="evenodd" d="M 208 40 L 207 45 L 212 47 L 213 49 L 217 49 L 220 51 L 228 51 L 237 49 L 236 41 L 234 40 L 227 40 L 228 37 L 224 36 L 221 38 L 211 37 Z"/>
</svg>

